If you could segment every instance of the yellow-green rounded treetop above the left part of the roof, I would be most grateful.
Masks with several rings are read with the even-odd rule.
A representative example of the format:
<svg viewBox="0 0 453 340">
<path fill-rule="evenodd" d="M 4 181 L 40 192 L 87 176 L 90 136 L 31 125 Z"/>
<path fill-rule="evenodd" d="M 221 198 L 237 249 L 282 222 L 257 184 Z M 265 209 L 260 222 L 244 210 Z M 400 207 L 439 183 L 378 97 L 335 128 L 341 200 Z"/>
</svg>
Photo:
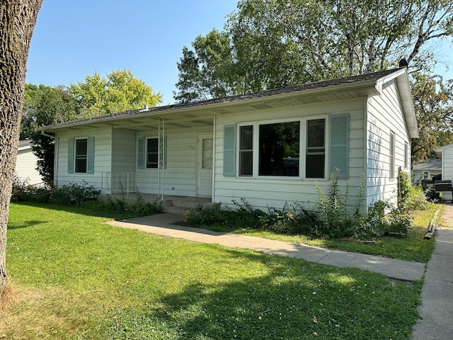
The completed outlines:
<svg viewBox="0 0 453 340">
<path fill-rule="evenodd" d="M 101 77 L 96 72 L 85 81 L 70 84 L 69 91 L 81 102 L 80 118 L 92 118 L 109 113 L 156 106 L 162 102 L 161 94 L 134 77 L 129 69 L 118 69 Z"/>
</svg>

